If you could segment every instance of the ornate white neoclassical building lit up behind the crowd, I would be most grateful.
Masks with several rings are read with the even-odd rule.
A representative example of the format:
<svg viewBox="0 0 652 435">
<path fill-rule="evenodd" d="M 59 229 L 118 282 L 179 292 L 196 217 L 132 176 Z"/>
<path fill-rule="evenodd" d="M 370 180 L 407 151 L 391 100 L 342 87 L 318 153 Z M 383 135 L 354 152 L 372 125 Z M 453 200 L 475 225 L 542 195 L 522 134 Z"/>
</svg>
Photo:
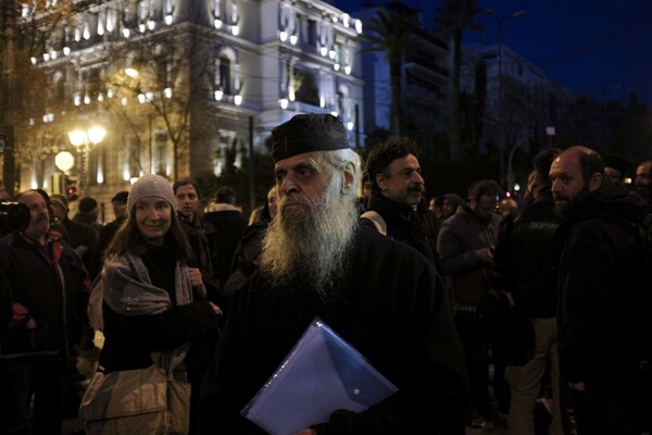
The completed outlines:
<svg viewBox="0 0 652 435">
<path fill-rule="evenodd" d="M 18 21 L 36 14 L 47 11 L 24 7 Z M 143 173 L 220 175 L 229 153 L 238 165 L 266 152 L 297 113 L 337 114 L 363 144 L 361 33 L 319 0 L 110 0 L 62 15 L 32 41 L 46 84 L 16 121 L 21 189 L 57 191 L 62 151 L 82 195 L 105 204 Z M 71 132 L 93 126 L 105 130 L 98 144 L 72 145 Z"/>
</svg>

